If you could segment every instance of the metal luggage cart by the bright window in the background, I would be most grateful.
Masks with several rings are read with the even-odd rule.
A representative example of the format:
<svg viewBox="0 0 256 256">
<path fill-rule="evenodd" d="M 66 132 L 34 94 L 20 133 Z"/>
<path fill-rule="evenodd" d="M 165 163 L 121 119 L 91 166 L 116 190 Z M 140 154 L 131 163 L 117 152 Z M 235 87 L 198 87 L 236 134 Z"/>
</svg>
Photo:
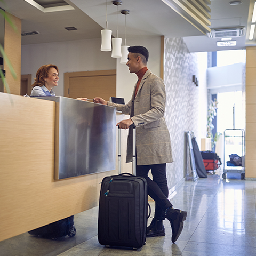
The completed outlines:
<svg viewBox="0 0 256 256">
<path fill-rule="evenodd" d="M 241 157 L 242 166 L 228 166 L 227 159 L 232 154 L 237 154 Z M 227 172 L 241 173 L 241 180 L 245 179 L 245 132 L 243 129 L 226 129 L 224 131 L 223 162 L 223 179 L 226 179 Z"/>
</svg>

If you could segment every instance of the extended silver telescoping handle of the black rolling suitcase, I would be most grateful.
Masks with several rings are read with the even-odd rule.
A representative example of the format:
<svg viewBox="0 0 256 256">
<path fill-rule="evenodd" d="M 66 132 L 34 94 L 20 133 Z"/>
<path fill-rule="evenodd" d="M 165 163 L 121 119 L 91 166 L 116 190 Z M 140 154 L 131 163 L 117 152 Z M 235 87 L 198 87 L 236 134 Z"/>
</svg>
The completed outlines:
<svg viewBox="0 0 256 256">
<path fill-rule="evenodd" d="M 129 127 L 132 127 L 132 174 L 136 176 L 136 126 L 132 124 Z M 121 129 L 118 125 L 118 175 L 121 172 Z"/>
</svg>

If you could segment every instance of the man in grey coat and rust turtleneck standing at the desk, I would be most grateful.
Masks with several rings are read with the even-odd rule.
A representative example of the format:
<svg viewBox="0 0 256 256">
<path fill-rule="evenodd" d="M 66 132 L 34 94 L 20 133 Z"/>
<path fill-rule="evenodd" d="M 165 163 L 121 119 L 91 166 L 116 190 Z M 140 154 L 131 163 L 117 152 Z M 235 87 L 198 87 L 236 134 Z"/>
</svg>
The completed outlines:
<svg viewBox="0 0 256 256">
<path fill-rule="evenodd" d="M 138 76 L 131 100 L 126 104 L 116 104 L 94 98 L 94 102 L 116 107 L 129 119 L 117 123 L 121 129 L 136 126 L 137 176 L 148 183 L 148 194 L 155 201 L 155 215 L 147 228 L 147 237 L 165 236 L 163 220 L 171 223 L 172 242 L 175 243 L 183 229 L 187 212 L 174 209 L 168 200 L 166 163 L 173 162 L 170 134 L 165 122 L 165 86 L 161 78 L 147 68 L 148 50 L 143 46 L 128 48 L 130 73 Z M 129 129 L 126 162 L 132 162 L 132 129 Z M 148 177 L 151 170 L 153 180 Z"/>
</svg>

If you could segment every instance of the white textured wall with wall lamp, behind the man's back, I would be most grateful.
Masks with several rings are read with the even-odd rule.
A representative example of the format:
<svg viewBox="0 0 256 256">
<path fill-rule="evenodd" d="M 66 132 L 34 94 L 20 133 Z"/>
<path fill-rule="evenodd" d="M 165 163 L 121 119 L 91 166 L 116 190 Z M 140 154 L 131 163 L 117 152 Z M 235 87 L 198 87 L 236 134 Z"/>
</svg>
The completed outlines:
<svg viewBox="0 0 256 256">
<path fill-rule="evenodd" d="M 165 118 L 171 134 L 174 162 L 167 164 L 169 188 L 188 174 L 185 132 L 194 131 L 200 148 L 206 136 L 207 53 L 189 53 L 182 38 L 165 38 Z M 199 79 L 199 86 L 192 76 Z"/>
</svg>

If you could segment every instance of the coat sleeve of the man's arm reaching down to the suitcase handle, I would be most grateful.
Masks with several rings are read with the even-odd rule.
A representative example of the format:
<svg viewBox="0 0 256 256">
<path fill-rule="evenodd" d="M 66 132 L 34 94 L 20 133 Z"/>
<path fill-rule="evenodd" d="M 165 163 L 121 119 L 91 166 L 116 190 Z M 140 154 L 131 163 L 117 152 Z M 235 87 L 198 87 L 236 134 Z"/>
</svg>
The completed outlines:
<svg viewBox="0 0 256 256">
<path fill-rule="evenodd" d="M 166 94 L 165 86 L 161 78 L 157 77 L 150 81 L 149 93 L 150 95 L 147 95 L 146 97 L 142 95 L 140 99 L 142 102 L 145 101 L 145 104 L 141 102 L 140 105 L 150 104 L 149 110 L 145 111 L 145 113 L 136 115 L 135 109 L 135 115 L 131 117 L 136 126 L 147 125 L 164 116 Z M 142 97 L 145 97 L 145 99 Z"/>
</svg>

